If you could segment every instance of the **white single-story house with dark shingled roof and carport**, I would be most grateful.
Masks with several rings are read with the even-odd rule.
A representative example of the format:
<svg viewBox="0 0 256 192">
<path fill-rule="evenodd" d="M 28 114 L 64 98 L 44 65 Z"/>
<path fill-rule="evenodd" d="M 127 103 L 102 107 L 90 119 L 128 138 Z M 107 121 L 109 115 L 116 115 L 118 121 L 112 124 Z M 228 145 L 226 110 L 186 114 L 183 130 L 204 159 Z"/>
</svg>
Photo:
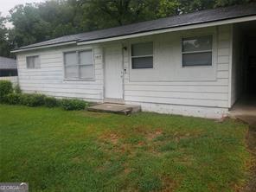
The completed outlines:
<svg viewBox="0 0 256 192">
<path fill-rule="evenodd" d="M 221 118 L 242 93 L 255 90 L 255 44 L 256 3 L 247 3 L 66 35 L 12 52 L 26 93 Z"/>
</svg>

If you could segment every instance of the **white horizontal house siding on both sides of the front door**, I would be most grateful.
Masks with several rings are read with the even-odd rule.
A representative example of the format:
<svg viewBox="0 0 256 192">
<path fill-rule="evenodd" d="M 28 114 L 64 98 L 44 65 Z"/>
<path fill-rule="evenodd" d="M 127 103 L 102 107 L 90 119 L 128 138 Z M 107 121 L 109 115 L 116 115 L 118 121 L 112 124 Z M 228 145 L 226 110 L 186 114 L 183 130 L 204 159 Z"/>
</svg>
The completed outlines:
<svg viewBox="0 0 256 192">
<path fill-rule="evenodd" d="M 143 111 L 221 118 L 230 107 L 229 69 L 232 25 L 190 29 L 122 41 L 124 53 L 125 103 L 138 104 Z M 182 37 L 214 35 L 212 67 L 182 67 Z M 154 68 L 131 69 L 132 42 L 154 42 Z M 120 42 L 118 42 L 120 43 Z M 103 47 L 106 44 L 103 45 Z M 63 52 L 89 48 L 70 46 L 29 51 L 17 55 L 19 83 L 26 93 L 55 97 L 104 99 L 103 48 L 95 45 L 95 80 L 64 80 Z M 38 54 L 41 68 L 27 69 L 26 56 Z M 121 63 L 122 64 L 122 63 Z"/>
</svg>

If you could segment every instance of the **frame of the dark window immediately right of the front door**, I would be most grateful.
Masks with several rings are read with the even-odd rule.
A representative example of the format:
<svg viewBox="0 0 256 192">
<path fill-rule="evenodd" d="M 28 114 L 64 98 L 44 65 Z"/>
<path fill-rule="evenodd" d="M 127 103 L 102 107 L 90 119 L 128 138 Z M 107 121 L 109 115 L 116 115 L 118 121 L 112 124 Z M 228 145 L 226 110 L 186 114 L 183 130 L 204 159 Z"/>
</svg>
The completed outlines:
<svg viewBox="0 0 256 192">
<path fill-rule="evenodd" d="M 138 55 L 138 56 L 132 56 L 132 45 L 134 44 L 143 44 L 143 43 L 147 43 L 147 42 L 151 42 L 152 43 L 152 54 L 145 54 L 145 55 Z M 141 70 L 141 69 L 146 69 L 146 70 L 150 70 L 150 69 L 154 69 L 155 67 L 155 42 L 154 41 L 147 41 L 147 42 L 131 42 L 130 43 L 130 61 L 131 61 L 131 70 Z M 145 67 L 145 68 L 133 68 L 132 67 L 132 59 L 133 58 L 145 58 L 145 57 L 152 57 L 152 67 Z"/>
</svg>

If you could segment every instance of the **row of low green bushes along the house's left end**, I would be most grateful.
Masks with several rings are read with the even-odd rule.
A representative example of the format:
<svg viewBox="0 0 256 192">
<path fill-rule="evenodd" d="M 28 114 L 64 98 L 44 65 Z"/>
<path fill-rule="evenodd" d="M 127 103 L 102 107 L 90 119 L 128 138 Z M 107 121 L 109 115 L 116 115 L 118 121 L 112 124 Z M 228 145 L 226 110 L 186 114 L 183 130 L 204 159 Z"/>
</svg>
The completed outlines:
<svg viewBox="0 0 256 192">
<path fill-rule="evenodd" d="M 8 80 L 0 80 L 0 103 L 22 106 L 61 106 L 64 110 L 84 110 L 88 102 L 81 99 L 56 99 L 37 93 L 22 93 L 19 86 L 14 89 Z"/>
</svg>

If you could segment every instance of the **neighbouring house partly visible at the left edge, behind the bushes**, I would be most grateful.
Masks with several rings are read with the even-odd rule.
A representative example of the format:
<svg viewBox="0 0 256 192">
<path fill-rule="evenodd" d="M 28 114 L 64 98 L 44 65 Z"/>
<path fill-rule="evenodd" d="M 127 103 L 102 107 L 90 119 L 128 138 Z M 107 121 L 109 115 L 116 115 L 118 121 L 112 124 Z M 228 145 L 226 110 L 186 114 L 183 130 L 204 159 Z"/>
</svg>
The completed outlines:
<svg viewBox="0 0 256 192">
<path fill-rule="evenodd" d="M 16 60 L 0 56 L 0 77 L 17 76 Z"/>
</svg>

